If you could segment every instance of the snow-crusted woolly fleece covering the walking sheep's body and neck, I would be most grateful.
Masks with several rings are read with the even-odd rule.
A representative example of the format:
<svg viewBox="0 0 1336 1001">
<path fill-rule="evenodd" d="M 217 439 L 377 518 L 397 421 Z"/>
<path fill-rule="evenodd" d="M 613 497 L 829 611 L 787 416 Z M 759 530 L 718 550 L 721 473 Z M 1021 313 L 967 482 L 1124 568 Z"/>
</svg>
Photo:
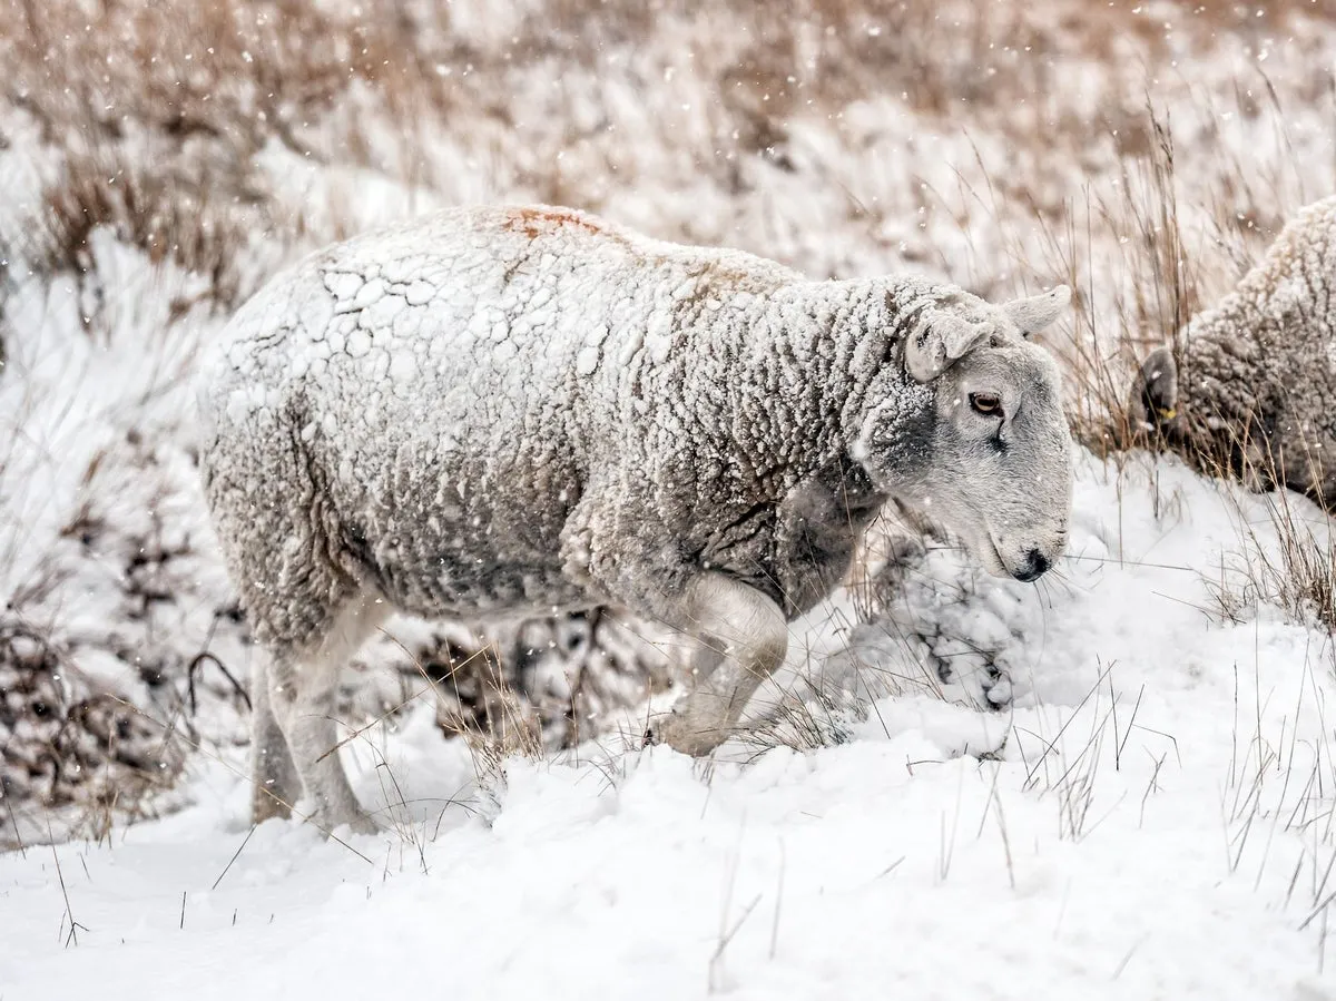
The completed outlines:
<svg viewBox="0 0 1336 1001">
<path fill-rule="evenodd" d="M 764 501 L 846 476 L 874 384 L 912 473 L 931 390 L 886 362 L 957 291 L 810 282 L 540 210 L 446 212 L 310 258 L 243 307 L 206 377 L 208 490 L 255 628 L 299 647 L 366 573 L 426 615 L 625 600 L 644 584 L 617 537 L 659 587 L 688 563 L 752 567 L 804 611 L 811 564 L 775 557 Z"/>
</svg>

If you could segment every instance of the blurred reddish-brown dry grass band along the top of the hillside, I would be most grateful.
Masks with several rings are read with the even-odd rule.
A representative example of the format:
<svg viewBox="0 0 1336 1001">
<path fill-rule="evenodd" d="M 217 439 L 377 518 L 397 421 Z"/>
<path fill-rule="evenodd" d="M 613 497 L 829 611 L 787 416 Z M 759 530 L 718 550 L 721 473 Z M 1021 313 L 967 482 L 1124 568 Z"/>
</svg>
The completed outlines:
<svg viewBox="0 0 1336 1001">
<path fill-rule="evenodd" d="M 1313 5 L 1293 8 L 1313 13 Z M 517 72 L 542 67 L 553 80 L 576 71 L 592 80 L 621 75 L 608 53 L 637 39 L 680 37 L 691 48 L 705 87 L 707 130 L 676 142 L 735 194 L 747 188 L 740 164 L 749 158 L 792 170 L 796 118 L 838 116 L 870 95 L 900 95 L 957 127 L 987 116 L 1021 162 L 1041 148 L 1077 155 L 1110 136 L 1136 159 L 1162 139 L 1142 106 L 1117 99 L 1086 114 L 1038 96 L 1058 95 L 1059 75 L 1077 64 L 1100 67 L 1110 94 L 1126 91 L 1125 78 L 1142 67 L 1125 67 L 1110 47 L 1121 33 L 1154 57 L 1166 51 L 1158 25 L 1140 12 L 1074 0 L 1051 9 L 990 0 L 804 0 L 783 19 L 740 0 L 703 9 L 683 0 L 557 0 L 532 11 L 365 0 L 355 15 L 305 0 L 7 0 L 0 9 L 11 100 L 61 162 L 36 226 L 8 239 L 35 233 L 39 267 L 81 271 L 88 230 L 108 225 L 154 259 L 171 257 L 211 275 L 224 307 L 246 291 L 228 262 L 247 234 L 266 231 L 290 245 L 305 235 L 301 215 L 275 210 L 257 171 L 267 146 L 430 186 L 441 167 L 430 163 L 429 135 L 525 127 L 526 108 L 512 98 Z M 1261 31 L 1281 16 L 1279 8 L 1263 19 L 1242 13 L 1230 4 L 1185 3 L 1180 20 L 1237 32 Z M 631 82 L 647 94 L 659 87 Z M 616 118 L 612 107 L 603 115 Z M 608 178 L 572 178 L 544 159 L 512 164 L 513 182 L 548 200 L 596 207 L 600 188 L 617 183 L 615 140 L 599 128 L 568 130 L 568 146 L 605 148 Z M 1029 171 L 1042 167 L 1035 158 Z M 1059 229 L 1069 222 L 1051 186 L 1014 170 L 994 175 L 995 198 L 1027 203 Z M 879 210 L 856 198 L 852 204 L 875 223 Z"/>
</svg>

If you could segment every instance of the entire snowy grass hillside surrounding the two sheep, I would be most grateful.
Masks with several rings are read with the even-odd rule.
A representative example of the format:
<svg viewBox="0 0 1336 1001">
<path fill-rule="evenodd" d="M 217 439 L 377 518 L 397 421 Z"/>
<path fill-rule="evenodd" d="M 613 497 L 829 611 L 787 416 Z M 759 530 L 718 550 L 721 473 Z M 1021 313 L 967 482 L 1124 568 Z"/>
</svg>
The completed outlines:
<svg viewBox="0 0 1336 1001">
<path fill-rule="evenodd" d="M 0 1001 L 1336 998 L 1328 520 L 1118 425 L 1336 190 L 1324 0 L 9 13 Z M 1003 583 L 887 516 L 709 762 L 640 748 L 661 627 L 395 620 L 341 704 L 386 831 L 251 829 L 196 357 L 309 249 L 501 200 L 1070 283 L 1067 556 Z"/>
</svg>

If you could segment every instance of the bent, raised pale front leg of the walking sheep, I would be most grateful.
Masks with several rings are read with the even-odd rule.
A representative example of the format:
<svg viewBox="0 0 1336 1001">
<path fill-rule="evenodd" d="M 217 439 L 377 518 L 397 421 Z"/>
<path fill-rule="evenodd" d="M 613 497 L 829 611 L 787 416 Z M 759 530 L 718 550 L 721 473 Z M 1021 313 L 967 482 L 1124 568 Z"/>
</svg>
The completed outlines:
<svg viewBox="0 0 1336 1001">
<path fill-rule="evenodd" d="M 659 616 L 700 644 L 695 687 L 651 723 L 645 738 L 684 754 L 709 754 L 733 735 L 747 702 L 784 662 L 788 624 L 770 597 L 717 572 L 693 577 L 667 605 Z"/>
</svg>

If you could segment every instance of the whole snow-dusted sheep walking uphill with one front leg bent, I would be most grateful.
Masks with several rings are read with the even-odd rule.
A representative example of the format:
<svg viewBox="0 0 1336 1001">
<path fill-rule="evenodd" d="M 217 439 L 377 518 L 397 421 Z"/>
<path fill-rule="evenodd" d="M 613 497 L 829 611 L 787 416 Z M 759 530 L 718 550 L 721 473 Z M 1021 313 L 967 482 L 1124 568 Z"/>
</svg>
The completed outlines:
<svg viewBox="0 0 1336 1001">
<path fill-rule="evenodd" d="M 228 322 L 202 470 L 258 641 L 255 821 L 302 790 L 370 830 L 330 748 L 341 664 L 393 611 L 621 605 L 692 637 L 647 742 L 708 754 L 888 498 L 997 575 L 1065 547 L 1058 369 L 921 278 L 810 281 L 552 207 L 461 208 L 321 251 Z"/>
</svg>

